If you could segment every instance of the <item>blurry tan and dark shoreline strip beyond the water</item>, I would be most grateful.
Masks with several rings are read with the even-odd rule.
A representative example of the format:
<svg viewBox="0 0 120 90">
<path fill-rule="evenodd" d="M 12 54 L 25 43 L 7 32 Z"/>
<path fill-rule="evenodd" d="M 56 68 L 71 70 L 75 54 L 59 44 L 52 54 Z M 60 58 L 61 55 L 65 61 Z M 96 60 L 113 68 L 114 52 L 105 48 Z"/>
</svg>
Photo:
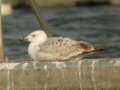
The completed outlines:
<svg viewBox="0 0 120 90">
<path fill-rule="evenodd" d="M 67 8 L 83 5 L 120 5 L 120 0 L 34 0 L 41 8 Z M 12 6 L 30 5 L 27 0 L 11 0 Z"/>
</svg>

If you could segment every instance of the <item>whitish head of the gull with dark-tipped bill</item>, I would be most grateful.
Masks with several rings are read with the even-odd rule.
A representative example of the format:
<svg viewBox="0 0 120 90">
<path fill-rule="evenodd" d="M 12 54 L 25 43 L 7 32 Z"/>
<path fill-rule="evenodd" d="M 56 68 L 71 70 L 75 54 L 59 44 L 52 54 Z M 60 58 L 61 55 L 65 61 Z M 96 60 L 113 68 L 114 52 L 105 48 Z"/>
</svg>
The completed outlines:
<svg viewBox="0 0 120 90">
<path fill-rule="evenodd" d="M 27 42 L 44 42 L 47 40 L 47 35 L 44 31 L 37 30 L 30 33 L 28 36 L 22 39 L 23 41 Z"/>
</svg>

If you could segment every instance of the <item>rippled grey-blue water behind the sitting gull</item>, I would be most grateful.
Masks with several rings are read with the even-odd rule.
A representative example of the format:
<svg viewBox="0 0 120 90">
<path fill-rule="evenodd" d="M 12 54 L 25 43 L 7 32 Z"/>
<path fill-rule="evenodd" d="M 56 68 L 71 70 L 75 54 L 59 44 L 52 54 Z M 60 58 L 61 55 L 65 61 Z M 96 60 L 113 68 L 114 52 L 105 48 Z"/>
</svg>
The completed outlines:
<svg viewBox="0 0 120 90">
<path fill-rule="evenodd" d="M 42 10 L 55 36 L 84 40 L 95 46 L 112 46 L 113 49 L 89 58 L 120 56 L 120 7 L 98 6 L 61 10 Z M 10 59 L 29 58 L 26 43 L 19 38 L 40 29 L 33 12 L 16 9 L 11 16 L 3 17 L 5 54 Z"/>
</svg>

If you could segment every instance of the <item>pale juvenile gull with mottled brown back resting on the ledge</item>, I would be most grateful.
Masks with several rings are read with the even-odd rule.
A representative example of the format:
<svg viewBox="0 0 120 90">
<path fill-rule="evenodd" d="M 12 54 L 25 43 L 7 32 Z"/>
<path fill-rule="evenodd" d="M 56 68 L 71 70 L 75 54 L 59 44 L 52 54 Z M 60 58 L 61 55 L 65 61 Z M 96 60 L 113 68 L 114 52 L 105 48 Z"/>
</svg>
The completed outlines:
<svg viewBox="0 0 120 90">
<path fill-rule="evenodd" d="M 76 41 L 67 37 L 47 37 L 44 31 L 34 31 L 23 40 L 30 42 L 28 54 L 33 60 L 77 60 L 104 51 L 104 48 L 94 48 L 93 45 Z"/>
</svg>

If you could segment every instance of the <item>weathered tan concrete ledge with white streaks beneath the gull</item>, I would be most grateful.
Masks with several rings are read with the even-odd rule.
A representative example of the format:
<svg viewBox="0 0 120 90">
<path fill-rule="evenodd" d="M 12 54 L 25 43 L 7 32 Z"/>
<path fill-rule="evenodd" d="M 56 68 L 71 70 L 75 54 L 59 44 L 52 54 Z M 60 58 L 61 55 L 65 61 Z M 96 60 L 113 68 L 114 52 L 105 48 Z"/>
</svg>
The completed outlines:
<svg viewBox="0 0 120 90">
<path fill-rule="evenodd" d="M 120 90 L 120 59 L 1 63 L 0 90 Z"/>
</svg>

